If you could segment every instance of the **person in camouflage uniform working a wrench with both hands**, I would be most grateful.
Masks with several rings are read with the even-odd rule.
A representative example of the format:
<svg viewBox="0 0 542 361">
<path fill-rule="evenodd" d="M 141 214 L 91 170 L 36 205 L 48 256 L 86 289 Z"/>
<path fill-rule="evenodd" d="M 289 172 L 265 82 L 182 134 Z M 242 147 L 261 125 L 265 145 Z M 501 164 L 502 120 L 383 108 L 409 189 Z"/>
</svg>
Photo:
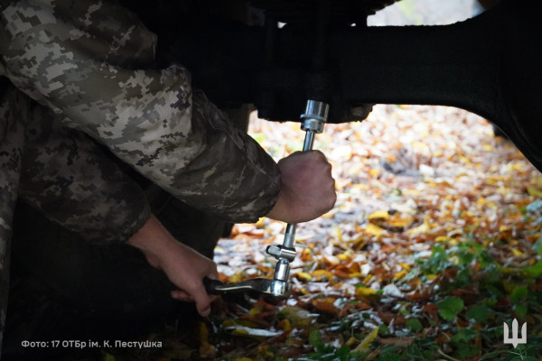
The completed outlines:
<svg viewBox="0 0 542 361">
<path fill-rule="evenodd" d="M 267 215 L 296 223 L 332 207 L 322 153 L 297 153 L 277 166 L 192 89 L 186 69 L 156 69 L 155 42 L 114 3 L 0 1 L 0 79 L 13 84 L 0 97 L 2 292 L 19 194 L 83 238 L 141 249 L 184 290 L 174 298 L 209 313 L 201 278 L 216 277 L 216 266 L 173 242 L 145 192 L 87 135 L 184 204 L 225 221 Z"/>
</svg>

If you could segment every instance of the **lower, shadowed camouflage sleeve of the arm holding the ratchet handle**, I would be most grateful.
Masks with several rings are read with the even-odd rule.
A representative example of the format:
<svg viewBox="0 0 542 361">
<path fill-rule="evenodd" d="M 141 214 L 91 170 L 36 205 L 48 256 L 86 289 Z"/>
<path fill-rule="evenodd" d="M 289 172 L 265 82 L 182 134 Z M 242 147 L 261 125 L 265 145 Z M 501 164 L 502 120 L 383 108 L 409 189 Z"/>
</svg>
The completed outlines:
<svg viewBox="0 0 542 361">
<path fill-rule="evenodd" d="M 22 110 L 22 199 L 93 243 L 124 242 L 143 227 L 150 216 L 144 191 L 98 144 L 44 106 L 27 102 Z"/>
</svg>

